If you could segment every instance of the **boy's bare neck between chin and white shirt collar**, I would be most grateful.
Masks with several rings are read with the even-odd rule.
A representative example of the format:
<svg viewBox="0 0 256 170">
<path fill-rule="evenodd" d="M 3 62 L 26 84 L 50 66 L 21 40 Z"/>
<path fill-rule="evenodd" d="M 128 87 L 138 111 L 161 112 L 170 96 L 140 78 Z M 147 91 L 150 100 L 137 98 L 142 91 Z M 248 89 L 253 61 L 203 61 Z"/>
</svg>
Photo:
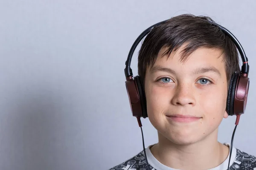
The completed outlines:
<svg viewBox="0 0 256 170">
<path fill-rule="evenodd" d="M 160 133 L 159 142 L 150 148 L 162 164 L 182 170 L 206 170 L 217 167 L 227 159 L 229 148 L 217 141 L 218 133 L 194 144 L 174 144 Z"/>
</svg>

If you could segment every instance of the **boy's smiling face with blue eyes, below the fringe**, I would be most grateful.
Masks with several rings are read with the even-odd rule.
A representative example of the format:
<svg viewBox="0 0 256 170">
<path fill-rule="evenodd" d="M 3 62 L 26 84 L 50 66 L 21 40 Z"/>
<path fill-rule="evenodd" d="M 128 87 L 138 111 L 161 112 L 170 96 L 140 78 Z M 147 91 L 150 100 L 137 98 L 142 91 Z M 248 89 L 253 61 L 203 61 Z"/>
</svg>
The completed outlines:
<svg viewBox="0 0 256 170">
<path fill-rule="evenodd" d="M 216 136 L 227 118 L 227 77 L 221 51 L 199 48 L 180 62 L 181 47 L 161 57 L 145 75 L 148 118 L 159 135 L 175 144 Z"/>
</svg>

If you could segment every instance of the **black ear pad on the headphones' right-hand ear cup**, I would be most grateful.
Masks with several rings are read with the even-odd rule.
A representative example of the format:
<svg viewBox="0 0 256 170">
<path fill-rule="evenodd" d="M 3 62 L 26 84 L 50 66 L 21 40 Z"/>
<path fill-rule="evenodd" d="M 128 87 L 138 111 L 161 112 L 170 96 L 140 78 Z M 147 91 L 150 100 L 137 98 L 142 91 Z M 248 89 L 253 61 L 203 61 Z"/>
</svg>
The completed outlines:
<svg viewBox="0 0 256 170">
<path fill-rule="evenodd" d="M 234 100 L 235 100 L 236 84 L 237 84 L 238 77 L 239 77 L 239 73 L 235 72 L 232 74 L 230 79 L 230 86 L 228 89 L 227 105 L 226 105 L 226 111 L 229 116 L 234 115 Z"/>
</svg>

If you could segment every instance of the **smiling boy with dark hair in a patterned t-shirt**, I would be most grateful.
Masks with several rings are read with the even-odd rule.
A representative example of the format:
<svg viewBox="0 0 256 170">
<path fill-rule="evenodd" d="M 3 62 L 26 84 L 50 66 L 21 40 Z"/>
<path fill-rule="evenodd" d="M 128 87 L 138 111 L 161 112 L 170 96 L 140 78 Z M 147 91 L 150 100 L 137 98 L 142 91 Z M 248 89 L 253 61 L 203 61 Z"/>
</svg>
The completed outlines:
<svg viewBox="0 0 256 170">
<path fill-rule="evenodd" d="M 110 170 L 227 170 L 230 144 L 218 142 L 218 126 L 241 70 L 236 45 L 207 21 L 183 14 L 145 38 L 138 73 L 158 143 Z M 256 157 L 233 148 L 229 170 L 241 169 L 256 170 Z"/>
</svg>

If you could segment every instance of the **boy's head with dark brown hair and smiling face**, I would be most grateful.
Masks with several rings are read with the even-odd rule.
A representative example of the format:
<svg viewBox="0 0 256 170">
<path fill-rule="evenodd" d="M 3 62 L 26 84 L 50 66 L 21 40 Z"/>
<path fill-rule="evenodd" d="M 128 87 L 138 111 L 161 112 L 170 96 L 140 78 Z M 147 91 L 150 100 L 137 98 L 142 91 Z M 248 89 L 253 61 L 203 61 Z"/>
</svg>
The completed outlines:
<svg viewBox="0 0 256 170">
<path fill-rule="evenodd" d="M 240 71 L 236 46 L 207 20 L 173 17 L 151 30 L 139 52 L 148 118 L 175 144 L 217 137 L 231 75 Z"/>
</svg>

